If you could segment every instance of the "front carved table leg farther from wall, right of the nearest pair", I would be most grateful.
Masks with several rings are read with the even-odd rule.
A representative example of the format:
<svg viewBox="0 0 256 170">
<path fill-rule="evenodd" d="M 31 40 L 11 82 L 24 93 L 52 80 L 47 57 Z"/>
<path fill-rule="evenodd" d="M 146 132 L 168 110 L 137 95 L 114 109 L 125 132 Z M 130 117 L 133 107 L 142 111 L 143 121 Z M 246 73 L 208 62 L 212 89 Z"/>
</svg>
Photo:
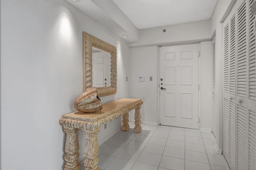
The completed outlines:
<svg viewBox="0 0 256 170">
<path fill-rule="evenodd" d="M 98 145 L 98 133 L 100 132 L 100 128 L 96 130 L 83 130 L 84 135 L 86 136 L 86 144 L 85 144 L 85 160 L 84 165 L 86 166 L 86 170 L 100 170 L 98 167 L 98 162 L 100 158 L 98 157 L 99 153 L 99 145 Z"/>
</svg>

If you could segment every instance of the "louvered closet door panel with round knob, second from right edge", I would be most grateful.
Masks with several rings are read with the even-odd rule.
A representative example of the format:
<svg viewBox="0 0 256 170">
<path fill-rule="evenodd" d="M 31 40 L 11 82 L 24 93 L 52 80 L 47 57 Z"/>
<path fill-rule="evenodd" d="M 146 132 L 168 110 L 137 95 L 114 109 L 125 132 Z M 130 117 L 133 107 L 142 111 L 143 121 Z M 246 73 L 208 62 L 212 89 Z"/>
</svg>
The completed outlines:
<svg viewBox="0 0 256 170">
<path fill-rule="evenodd" d="M 238 3 L 240 0 L 237 1 Z M 237 169 L 248 169 L 248 115 L 247 108 L 247 58 L 248 58 L 248 3 L 242 0 L 237 11 L 236 56 L 236 113 L 237 113 Z"/>
</svg>

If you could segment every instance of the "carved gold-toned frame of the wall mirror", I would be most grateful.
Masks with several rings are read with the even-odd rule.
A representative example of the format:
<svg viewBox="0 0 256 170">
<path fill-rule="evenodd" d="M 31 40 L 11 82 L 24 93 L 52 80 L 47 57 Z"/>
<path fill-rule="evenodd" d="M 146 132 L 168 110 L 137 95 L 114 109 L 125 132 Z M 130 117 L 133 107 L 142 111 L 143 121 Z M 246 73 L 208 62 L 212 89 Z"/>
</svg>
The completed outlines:
<svg viewBox="0 0 256 170">
<path fill-rule="evenodd" d="M 83 32 L 83 89 L 92 87 L 92 47 L 96 47 L 112 55 L 112 86 L 97 87 L 98 96 L 116 94 L 116 47 L 86 32 Z"/>
</svg>

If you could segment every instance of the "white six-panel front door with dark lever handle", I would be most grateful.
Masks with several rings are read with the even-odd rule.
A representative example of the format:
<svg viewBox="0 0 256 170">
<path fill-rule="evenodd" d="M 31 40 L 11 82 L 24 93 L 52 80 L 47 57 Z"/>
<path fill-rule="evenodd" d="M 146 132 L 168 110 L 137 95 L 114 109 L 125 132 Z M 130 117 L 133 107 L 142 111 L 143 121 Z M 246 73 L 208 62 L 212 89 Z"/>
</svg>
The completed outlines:
<svg viewBox="0 0 256 170">
<path fill-rule="evenodd" d="M 159 123 L 198 129 L 198 44 L 160 47 Z"/>
</svg>

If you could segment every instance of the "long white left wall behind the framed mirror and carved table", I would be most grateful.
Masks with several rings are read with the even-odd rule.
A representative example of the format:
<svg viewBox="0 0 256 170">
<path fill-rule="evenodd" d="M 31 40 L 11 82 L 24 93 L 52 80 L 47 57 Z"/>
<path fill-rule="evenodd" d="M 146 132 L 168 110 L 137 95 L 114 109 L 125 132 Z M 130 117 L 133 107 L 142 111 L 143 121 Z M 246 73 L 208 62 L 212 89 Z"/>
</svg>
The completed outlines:
<svg viewBox="0 0 256 170">
<path fill-rule="evenodd" d="M 58 170 L 64 133 L 59 119 L 82 93 L 82 32 L 117 47 L 117 93 L 128 97 L 129 48 L 63 0 L 2 0 L 2 170 Z M 101 129 L 99 140 L 120 129 Z M 80 154 L 84 136 L 79 132 Z M 42 165 L 43 163 L 43 165 Z"/>
</svg>

